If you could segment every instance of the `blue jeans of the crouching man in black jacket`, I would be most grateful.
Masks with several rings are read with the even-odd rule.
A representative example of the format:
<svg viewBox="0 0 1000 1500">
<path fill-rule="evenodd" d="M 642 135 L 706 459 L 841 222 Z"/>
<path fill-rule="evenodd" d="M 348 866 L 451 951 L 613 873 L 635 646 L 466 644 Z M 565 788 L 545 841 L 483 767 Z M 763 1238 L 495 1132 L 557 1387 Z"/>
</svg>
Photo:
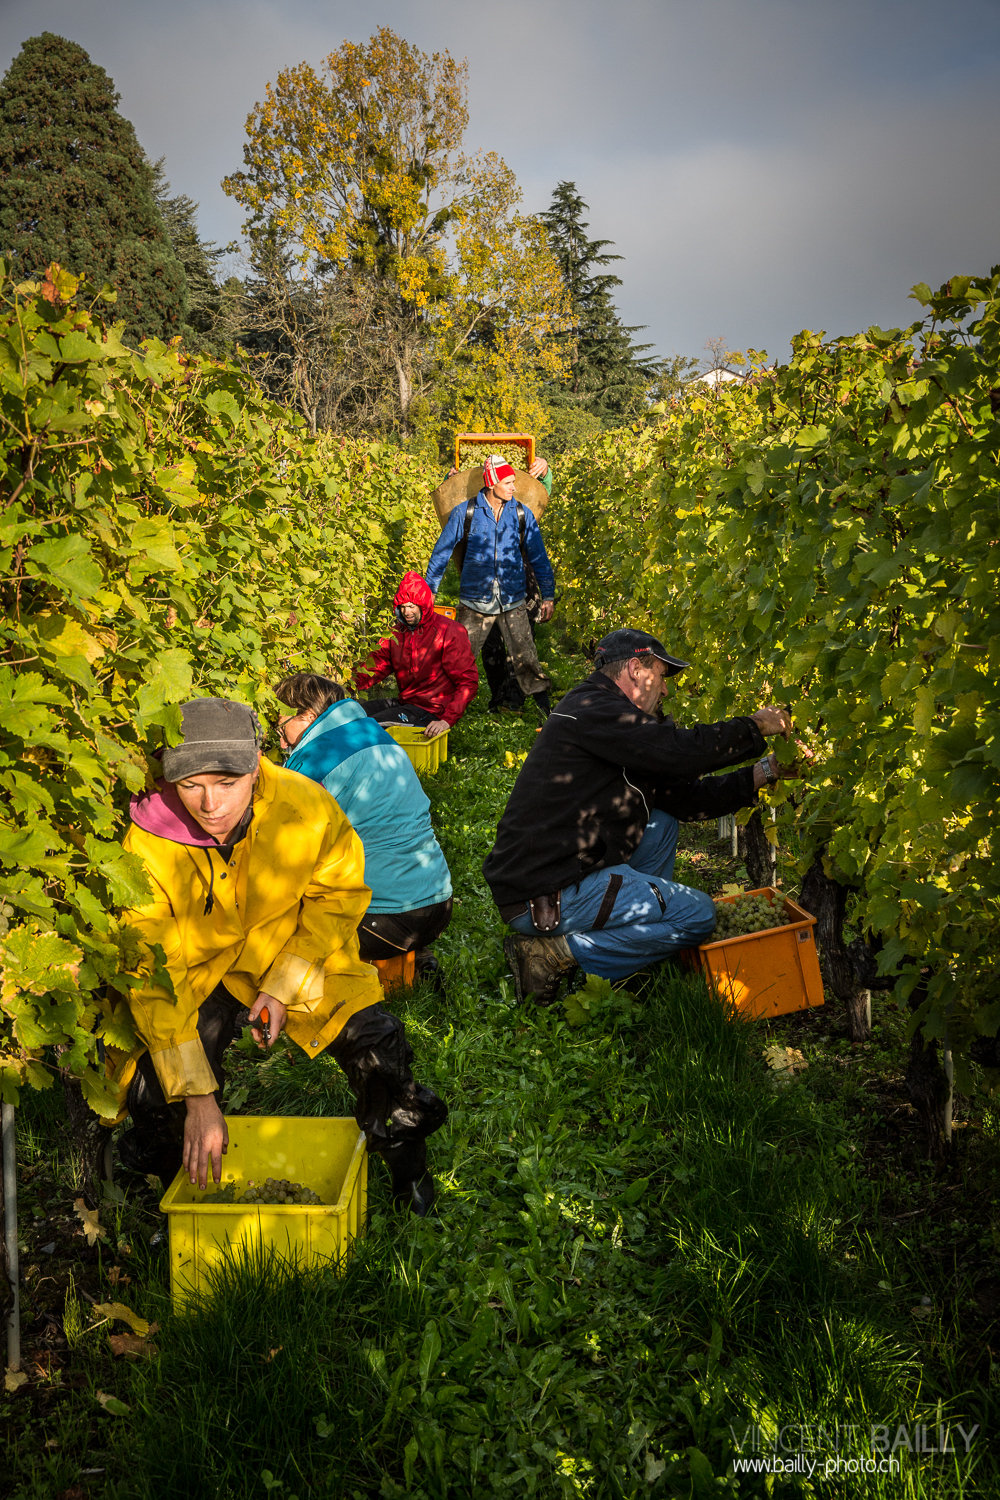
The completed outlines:
<svg viewBox="0 0 1000 1500">
<path fill-rule="evenodd" d="M 676 850 L 676 818 L 654 812 L 627 864 L 597 870 L 562 891 L 559 926 L 543 936 L 565 938 L 583 972 L 603 980 L 624 980 L 681 948 L 696 948 L 715 930 L 715 903 L 672 879 Z M 594 930 L 612 876 L 621 876 L 621 888 L 604 926 Z M 538 936 L 531 912 L 510 926 L 525 938 Z"/>
</svg>

